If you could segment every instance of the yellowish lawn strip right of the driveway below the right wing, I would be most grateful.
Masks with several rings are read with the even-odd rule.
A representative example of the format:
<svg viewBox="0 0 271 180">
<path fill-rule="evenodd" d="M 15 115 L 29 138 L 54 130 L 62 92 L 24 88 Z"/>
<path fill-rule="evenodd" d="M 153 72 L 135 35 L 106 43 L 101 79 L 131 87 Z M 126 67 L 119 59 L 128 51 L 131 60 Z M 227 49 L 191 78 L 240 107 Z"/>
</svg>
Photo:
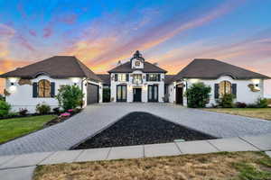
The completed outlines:
<svg viewBox="0 0 271 180">
<path fill-rule="evenodd" d="M 206 108 L 210 112 L 224 112 L 271 121 L 271 108 Z"/>
</svg>

